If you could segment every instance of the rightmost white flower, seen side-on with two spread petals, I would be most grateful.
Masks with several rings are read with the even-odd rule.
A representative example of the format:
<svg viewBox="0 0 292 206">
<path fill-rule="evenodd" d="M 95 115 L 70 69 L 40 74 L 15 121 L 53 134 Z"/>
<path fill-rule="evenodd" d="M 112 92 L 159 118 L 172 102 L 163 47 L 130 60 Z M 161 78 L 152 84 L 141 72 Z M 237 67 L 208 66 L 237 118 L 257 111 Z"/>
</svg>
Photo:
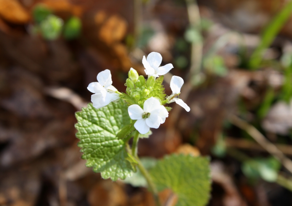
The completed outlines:
<svg viewBox="0 0 292 206">
<path fill-rule="evenodd" d="M 170 80 L 170 88 L 171 88 L 172 94 L 166 99 L 167 100 L 166 103 L 169 104 L 169 103 L 175 102 L 178 105 L 182 106 L 187 112 L 189 112 L 191 110 L 190 107 L 186 103 L 184 103 L 183 100 L 176 97 L 180 94 L 180 88 L 182 86 L 183 86 L 183 78 L 178 77 L 178 76 L 172 76 Z"/>
</svg>

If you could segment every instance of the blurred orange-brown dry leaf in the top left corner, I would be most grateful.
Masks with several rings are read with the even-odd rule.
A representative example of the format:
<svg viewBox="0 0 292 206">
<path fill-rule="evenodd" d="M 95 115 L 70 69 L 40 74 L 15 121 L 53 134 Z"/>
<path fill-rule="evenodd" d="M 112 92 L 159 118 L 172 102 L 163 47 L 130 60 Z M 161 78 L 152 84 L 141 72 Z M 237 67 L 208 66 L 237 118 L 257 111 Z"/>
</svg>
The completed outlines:
<svg viewBox="0 0 292 206">
<path fill-rule="evenodd" d="M 26 24 L 30 15 L 17 0 L 0 0 L 0 16 L 14 24 Z"/>
</svg>

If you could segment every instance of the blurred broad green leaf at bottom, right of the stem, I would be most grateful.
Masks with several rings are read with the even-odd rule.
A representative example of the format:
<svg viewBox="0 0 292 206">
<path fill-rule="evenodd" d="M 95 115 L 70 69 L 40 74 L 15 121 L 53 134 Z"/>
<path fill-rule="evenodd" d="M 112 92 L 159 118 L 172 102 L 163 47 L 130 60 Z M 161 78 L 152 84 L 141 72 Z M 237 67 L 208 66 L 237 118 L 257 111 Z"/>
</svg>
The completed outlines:
<svg viewBox="0 0 292 206">
<path fill-rule="evenodd" d="M 183 154 L 164 157 L 150 170 L 159 191 L 169 188 L 178 195 L 177 206 L 204 206 L 211 190 L 209 159 Z"/>
</svg>

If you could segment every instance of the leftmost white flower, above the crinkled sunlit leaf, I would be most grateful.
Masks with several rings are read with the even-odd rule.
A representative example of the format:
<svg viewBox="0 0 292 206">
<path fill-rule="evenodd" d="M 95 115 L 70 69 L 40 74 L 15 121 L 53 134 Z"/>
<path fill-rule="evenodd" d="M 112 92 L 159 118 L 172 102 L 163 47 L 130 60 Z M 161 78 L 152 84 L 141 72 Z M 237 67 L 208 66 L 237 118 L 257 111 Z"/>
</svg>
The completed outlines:
<svg viewBox="0 0 292 206">
<path fill-rule="evenodd" d="M 99 109 L 120 99 L 119 94 L 115 93 L 117 89 L 112 86 L 112 75 L 108 69 L 98 73 L 97 80 L 98 82 L 91 82 L 87 87 L 89 91 L 95 93 L 91 95 L 93 107 Z"/>
</svg>

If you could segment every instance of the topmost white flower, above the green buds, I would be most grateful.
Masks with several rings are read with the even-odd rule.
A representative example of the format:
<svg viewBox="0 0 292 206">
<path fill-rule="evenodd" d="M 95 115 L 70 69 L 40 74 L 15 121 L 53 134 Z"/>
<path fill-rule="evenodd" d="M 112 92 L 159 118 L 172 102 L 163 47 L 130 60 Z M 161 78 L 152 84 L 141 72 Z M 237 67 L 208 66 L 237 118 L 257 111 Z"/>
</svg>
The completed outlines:
<svg viewBox="0 0 292 206">
<path fill-rule="evenodd" d="M 143 56 L 142 63 L 145 67 L 145 73 L 150 76 L 158 77 L 158 75 L 165 75 L 173 68 L 172 64 L 166 64 L 159 67 L 161 61 L 161 54 L 157 52 L 151 52 L 150 54 L 148 54 L 147 60 L 145 56 Z"/>
</svg>

